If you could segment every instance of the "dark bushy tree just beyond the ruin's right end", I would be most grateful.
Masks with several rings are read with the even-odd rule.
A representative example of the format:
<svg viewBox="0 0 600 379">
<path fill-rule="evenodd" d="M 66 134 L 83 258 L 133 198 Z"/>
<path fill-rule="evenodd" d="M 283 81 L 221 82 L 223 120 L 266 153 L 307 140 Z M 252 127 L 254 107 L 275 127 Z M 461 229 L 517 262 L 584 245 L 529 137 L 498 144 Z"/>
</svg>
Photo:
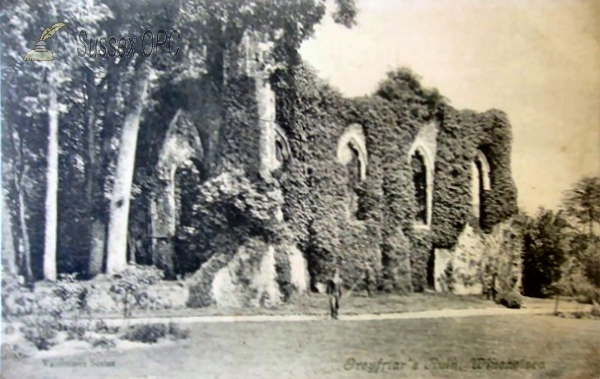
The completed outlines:
<svg viewBox="0 0 600 379">
<path fill-rule="evenodd" d="M 523 292 L 526 296 L 551 295 L 566 261 L 568 224 L 561 212 L 540 208 L 525 223 L 523 233 Z"/>
</svg>

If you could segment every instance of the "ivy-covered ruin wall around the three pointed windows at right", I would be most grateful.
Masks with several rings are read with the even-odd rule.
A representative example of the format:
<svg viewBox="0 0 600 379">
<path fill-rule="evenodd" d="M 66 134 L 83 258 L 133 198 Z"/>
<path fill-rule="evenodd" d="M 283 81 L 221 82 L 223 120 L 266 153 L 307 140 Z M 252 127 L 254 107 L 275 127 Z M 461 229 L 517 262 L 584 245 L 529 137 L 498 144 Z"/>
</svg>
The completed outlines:
<svg viewBox="0 0 600 379">
<path fill-rule="evenodd" d="M 486 233 L 516 213 L 504 113 L 455 110 L 406 69 L 391 72 L 374 95 L 355 99 L 343 98 L 305 66 L 296 69 L 292 85 L 289 77 L 278 84 L 278 122 L 292 151 L 279 178 L 284 212 L 313 281 L 338 265 L 353 286 L 363 274 L 358 267 L 371 264 L 381 289 L 422 291 L 433 285 L 435 248 L 452 248 L 467 223 Z M 349 186 L 348 168 L 334 154 L 344 129 L 354 124 L 363 128 L 369 161 L 366 180 Z M 432 220 L 417 228 L 408 154 L 419 132 L 432 124 Z M 480 220 L 471 214 L 471 162 L 478 151 L 491 169 Z M 344 204 L 353 185 L 359 210 L 349 220 Z"/>
</svg>

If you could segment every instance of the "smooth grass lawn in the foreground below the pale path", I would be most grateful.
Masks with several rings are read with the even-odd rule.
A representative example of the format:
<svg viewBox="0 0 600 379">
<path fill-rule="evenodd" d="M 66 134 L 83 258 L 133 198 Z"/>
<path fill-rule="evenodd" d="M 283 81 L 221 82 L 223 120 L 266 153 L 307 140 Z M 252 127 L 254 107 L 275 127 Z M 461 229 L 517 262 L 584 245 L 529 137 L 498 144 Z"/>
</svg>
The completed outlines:
<svg viewBox="0 0 600 379">
<path fill-rule="evenodd" d="M 199 323 L 190 327 L 190 339 L 179 343 L 52 359 L 83 362 L 88 367 L 48 367 L 40 358 L 4 361 L 2 377 L 591 379 L 600 376 L 600 323 L 593 320 L 494 316 Z M 471 359 L 479 357 L 543 362 L 543 368 L 538 363 L 537 369 L 474 370 Z M 433 358 L 454 361 L 456 369 L 433 369 Z M 378 373 L 369 373 L 362 366 L 357 369 L 356 364 L 350 367 L 351 362 L 380 359 L 404 362 L 406 366 L 384 372 L 380 368 Z M 109 362 L 114 367 L 90 367 L 92 361 Z M 413 369 L 415 362 L 417 369 Z"/>
</svg>

